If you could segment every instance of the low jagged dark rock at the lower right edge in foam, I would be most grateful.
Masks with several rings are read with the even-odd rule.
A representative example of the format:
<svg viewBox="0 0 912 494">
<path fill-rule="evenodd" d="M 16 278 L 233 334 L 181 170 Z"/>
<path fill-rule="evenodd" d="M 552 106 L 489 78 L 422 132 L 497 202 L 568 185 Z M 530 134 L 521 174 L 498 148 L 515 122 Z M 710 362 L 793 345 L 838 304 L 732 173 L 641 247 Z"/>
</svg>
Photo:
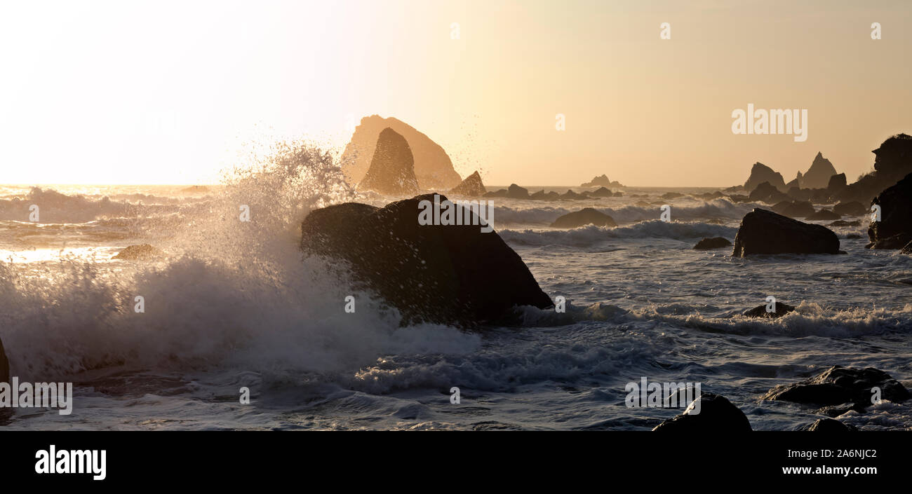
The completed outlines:
<svg viewBox="0 0 912 494">
<path fill-rule="evenodd" d="M 865 408 L 871 405 L 874 387 L 880 388 L 881 399 L 902 402 L 910 397 L 905 386 L 882 370 L 834 365 L 803 381 L 775 386 L 762 399 L 829 406 L 854 404 Z"/>
</svg>

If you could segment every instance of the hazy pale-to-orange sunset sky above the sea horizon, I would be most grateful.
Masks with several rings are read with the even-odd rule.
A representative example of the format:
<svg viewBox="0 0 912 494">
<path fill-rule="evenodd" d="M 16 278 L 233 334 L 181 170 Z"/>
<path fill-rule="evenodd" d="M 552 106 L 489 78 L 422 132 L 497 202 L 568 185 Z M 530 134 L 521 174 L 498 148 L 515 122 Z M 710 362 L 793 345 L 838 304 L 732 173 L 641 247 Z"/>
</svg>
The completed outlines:
<svg viewBox="0 0 912 494">
<path fill-rule="evenodd" d="M 375 113 L 489 184 L 788 181 L 817 151 L 852 181 L 912 132 L 910 47 L 905 0 L 7 4 L 0 182 L 209 183 Z M 808 139 L 733 135 L 748 103 L 807 108 Z"/>
</svg>

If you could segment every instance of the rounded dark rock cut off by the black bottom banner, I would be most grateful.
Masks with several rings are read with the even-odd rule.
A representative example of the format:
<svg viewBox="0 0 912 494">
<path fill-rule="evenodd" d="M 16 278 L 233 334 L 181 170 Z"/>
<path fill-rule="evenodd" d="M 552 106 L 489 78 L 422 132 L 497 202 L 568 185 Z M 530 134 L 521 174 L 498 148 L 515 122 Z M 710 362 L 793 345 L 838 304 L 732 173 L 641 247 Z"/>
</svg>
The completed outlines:
<svg viewBox="0 0 912 494">
<path fill-rule="evenodd" d="M 668 418 L 652 430 L 662 432 L 697 432 L 728 433 L 750 432 L 751 421 L 740 408 L 731 404 L 725 396 L 703 393 L 700 400 L 700 413 L 692 415 L 693 407 L 688 407 L 678 417 Z"/>
</svg>

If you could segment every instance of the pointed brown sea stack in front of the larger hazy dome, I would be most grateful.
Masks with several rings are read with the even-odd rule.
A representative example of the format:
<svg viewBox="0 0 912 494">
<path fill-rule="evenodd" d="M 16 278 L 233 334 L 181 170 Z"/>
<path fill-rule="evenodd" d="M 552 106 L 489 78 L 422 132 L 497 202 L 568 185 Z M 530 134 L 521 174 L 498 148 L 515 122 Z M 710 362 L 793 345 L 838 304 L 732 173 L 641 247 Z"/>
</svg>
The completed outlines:
<svg viewBox="0 0 912 494">
<path fill-rule="evenodd" d="M 377 139 L 370 168 L 358 189 L 402 195 L 418 191 L 409 142 L 393 129 L 383 129 Z"/>
</svg>

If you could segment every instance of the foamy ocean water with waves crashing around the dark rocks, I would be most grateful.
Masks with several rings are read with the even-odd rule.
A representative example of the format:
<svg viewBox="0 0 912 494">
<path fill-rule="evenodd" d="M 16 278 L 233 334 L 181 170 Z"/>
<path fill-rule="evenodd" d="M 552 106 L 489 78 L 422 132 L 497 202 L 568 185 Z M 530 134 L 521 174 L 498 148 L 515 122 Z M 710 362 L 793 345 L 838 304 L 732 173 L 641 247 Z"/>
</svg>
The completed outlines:
<svg viewBox="0 0 912 494">
<path fill-rule="evenodd" d="M 627 407 L 627 383 L 647 377 L 700 383 L 755 430 L 792 430 L 821 416 L 762 401 L 772 386 L 831 365 L 912 384 L 912 257 L 865 250 L 867 217 L 831 227 L 845 254 L 741 259 L 692 249 L 704 237 L 733 241 L 743 215 L 763 206 L 693 196 L 718 189 L 493 198 L 496 232 L 566 312 L 525 308 L 521 326 L 475 332 L 399 327 L 396 311 L 353 291 L 345 266 L 298 248 L 308 211 L 399 199 L 347 189 L 330 161 L 316 154 L 195 189 L 0 186 L 11 376 L 74 383 L 70 415 L 18 408 L 5 427 L 649 430 L 679 410 Z M 682 196 L 660 197 L 669 191 Z M 29 221 L 33 204 L 39 221 Z M 659 220 L 662 204 L 672 221 Z M 618 226 L 548 226 L 584 207 Z M 143 243 L 164 255 L 111 259 Z M 344 310 L 348 295 L 355 313 Z M 770 295 L 797 310 L 741 315 Z M 839 419 L 909 429 L 910 406 L 884 401 Z"/>
</svg>

